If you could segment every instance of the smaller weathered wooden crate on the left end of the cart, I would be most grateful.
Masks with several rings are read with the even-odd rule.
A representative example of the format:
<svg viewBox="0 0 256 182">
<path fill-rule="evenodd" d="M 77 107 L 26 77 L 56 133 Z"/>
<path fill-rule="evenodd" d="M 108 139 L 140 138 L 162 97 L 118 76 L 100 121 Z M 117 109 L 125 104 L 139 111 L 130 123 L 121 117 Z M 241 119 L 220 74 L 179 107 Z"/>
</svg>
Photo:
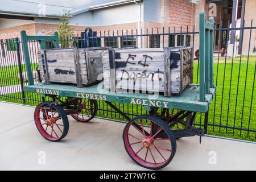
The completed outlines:
<svg viewBox="0 0 256 182">
<path fill-rule="evenodd" d="M 102 81 L 102 53 L 107 48 L 46 49 L 38 54 L 40 76 L 51 82 L 84 85 Z"/>
</svg>

